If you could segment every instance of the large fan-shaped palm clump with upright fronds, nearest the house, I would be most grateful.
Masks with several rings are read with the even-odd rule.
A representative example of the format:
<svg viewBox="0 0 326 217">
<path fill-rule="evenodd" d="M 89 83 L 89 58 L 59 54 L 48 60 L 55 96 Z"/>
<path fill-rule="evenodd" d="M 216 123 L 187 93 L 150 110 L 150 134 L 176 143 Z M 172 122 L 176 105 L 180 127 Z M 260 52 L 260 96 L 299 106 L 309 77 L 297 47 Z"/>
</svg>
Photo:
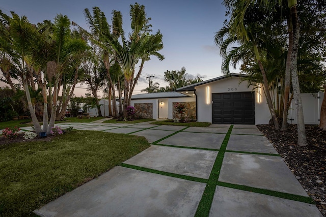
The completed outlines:
<svg viewBox="0 0 326 217">
<path fill-rule="evenodd" d="M 103 60 L 110 86 L 114 86 L 113 79 L 110 75 L 110 67 L 113 62 L 120 64 L 124 74 L 123 116 L 125 116 L 125 108 L 130 105 L 133 88 L 142 73 L 145 61 L 150 59 L 150 55 L 155 55 L 160 60 L 164 58 L 157 52 L 163 47 L 161 41 L 162 35 L 159 31 L 155 35 L 150 34 L 151 25 L 148 24 L 150 18 L 146 18 L 145 7 L 143 5 L 137 3 L 130 5 L 132 32 L 129 34 L 129 40 L 126 39 L 122 28 L 121 12 L 114 10 L 112 15 L 111 27 L 108 25 L 104 13 L 99 8 L 93 8 L 93 15 L 91 15 L 88 9 L 85 9 L 87 23 L 92 31 L 92 34 L 89 35 L 93 36 L 92 41 L 103 49 Z M 110 54 L 113 54 L 113 59 L 110 59 Z M 141 60 L 140 69 L 135 74 L 135 65 L 139 60 Z M 118 88 L 118 91 L 120 89 Z M 119 96 L 121 96 L 121 92 Z M 115 98 L 115 95 L 113 97 Z M 121 97 L 119 98 L 121 99 Z"/>
</svg>

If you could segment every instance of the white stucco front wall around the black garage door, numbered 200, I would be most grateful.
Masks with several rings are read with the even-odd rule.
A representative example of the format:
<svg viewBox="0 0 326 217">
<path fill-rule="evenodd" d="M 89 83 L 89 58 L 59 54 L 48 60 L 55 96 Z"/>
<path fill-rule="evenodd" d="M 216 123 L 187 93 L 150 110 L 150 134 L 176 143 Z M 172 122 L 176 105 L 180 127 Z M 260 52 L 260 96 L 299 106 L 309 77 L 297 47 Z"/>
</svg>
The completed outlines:
<svg viewBox="0 0 326 217">
<path fill-rule="evenodd" d="M 253 90 L 252 86 L 248 87 L 247 81 L 243 81 L 241 83 L 239 82 L 239 77 L 229 77 L 219 81 L 197 86 L 196 94 L 198 121 L 212 122 L 212 94 L 255 91 L 255 124 L 259 125 L 268 123 L 270 119 L 270 113 L 262 89 L 260 91 L 260 98 L 258 98 L 258 90 Z M 258 99 L 260 99 L 260 102 L 258 102 Z"/>
</svg>

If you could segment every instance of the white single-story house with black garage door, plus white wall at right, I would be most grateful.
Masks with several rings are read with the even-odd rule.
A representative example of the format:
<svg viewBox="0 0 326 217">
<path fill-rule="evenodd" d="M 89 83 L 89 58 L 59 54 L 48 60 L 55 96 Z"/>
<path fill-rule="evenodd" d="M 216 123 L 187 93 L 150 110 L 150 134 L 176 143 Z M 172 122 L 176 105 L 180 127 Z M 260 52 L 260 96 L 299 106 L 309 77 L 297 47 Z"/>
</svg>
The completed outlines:
<svg viewBox="0 0 326 217">
<path fill-rule="evenodd" d="M 267 124 L 270 112 L 263 92 L 248 85 L 241 75 L 231 73 L 178 88 L 176 92 L 153 92 L 133 95 L 131 105 L 138 115 L 147 118 L 179 118 L 174 106 L 183 103 L 186 115 L 200 122 Z M 317 125 L 324 93 L 301 94 L 305 123 Z M 296 123 L 294 100 L 289 106 L 288 122 Z"/>
</svg>

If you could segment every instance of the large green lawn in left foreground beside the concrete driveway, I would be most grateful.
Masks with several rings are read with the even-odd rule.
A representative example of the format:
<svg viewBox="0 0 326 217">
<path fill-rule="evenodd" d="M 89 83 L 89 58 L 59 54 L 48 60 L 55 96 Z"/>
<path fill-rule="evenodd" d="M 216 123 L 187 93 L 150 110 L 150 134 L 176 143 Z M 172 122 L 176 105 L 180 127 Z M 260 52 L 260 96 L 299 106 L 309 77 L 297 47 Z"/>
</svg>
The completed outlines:
<svg viewBox="0 0 326 217">
<path fill-rule="evenodd" d="M 0 216 L 26 216 L 150 145 L 144 137 L 72 131 L 0 145 Z"/>
</svg>

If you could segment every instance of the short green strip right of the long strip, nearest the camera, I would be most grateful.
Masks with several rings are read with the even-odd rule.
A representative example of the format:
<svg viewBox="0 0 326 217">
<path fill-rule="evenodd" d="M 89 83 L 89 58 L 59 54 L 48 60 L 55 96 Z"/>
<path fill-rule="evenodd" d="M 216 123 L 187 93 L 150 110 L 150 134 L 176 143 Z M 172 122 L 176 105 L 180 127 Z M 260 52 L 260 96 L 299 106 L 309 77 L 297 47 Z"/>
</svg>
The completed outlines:
<svg viewBox="0 0 326 217">
<path fill-rule="evenodd" d="M 258 189 L 258 188 L 253 188 L 253 187 L 249 187 L 246 185 L 231 184 L 231 183 L 222 182 L 222 181 L 218 181 L 218 185 L 227 187 L 227 188 L 247 191 L 247 192 L 254 192 L 254 193 L 258 193 L 258 194 L 264 194 L 264 195 L 284 198 L 284 199 L 288 199 L 288 200 L 295 200 L 295 201 L 300 201 L 300 202 L 304 202 L 304 203 L 315 204 L 314 200 L 311 197 L 305 197 L 305 196 L 301 196 L 301 195 L 293 195 L 293 194 L 289 194 L 289 193 L 276 192 L 276 191 L 271 191 L 271 190 L 267 190 L 267 189 Z"/>
</svg>

